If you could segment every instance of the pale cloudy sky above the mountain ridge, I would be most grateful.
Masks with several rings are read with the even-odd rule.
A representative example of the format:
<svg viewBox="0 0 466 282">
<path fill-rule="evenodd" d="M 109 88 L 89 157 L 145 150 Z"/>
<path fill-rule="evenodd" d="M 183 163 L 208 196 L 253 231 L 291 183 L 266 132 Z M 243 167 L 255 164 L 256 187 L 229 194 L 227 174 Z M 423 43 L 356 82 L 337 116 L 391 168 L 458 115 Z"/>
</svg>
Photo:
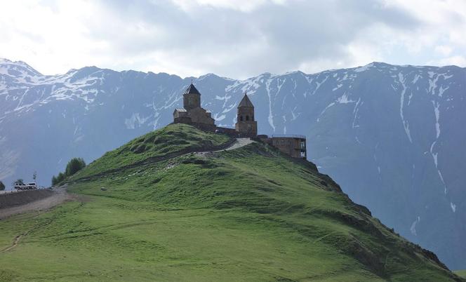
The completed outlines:
<svg viewBox="0 0 466 282">
<path fill-rule="evenodd" d="M 232 79 L 466 67 L 466 0 L 0 0 L 0 58 Z"/>
</svg>

